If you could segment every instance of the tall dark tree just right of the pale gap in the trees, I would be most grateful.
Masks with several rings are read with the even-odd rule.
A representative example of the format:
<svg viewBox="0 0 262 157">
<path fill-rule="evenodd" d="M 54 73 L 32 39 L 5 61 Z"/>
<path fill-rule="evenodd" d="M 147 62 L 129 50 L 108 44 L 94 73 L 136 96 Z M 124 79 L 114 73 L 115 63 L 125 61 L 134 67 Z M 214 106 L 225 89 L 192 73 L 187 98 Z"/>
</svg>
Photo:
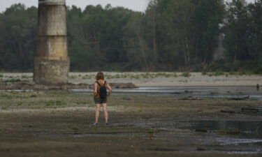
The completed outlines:
<svg viewBox="0 0 262 157">
<path fill-rule="evenodd" d="M 224 46 L 228 59 L 231 61 L 245 61 L 251 59 L 248 40 L 249 16 L 245 0 L 233 0 L 227 3 L 228 13 L 224 27 Z"/>
</svg>

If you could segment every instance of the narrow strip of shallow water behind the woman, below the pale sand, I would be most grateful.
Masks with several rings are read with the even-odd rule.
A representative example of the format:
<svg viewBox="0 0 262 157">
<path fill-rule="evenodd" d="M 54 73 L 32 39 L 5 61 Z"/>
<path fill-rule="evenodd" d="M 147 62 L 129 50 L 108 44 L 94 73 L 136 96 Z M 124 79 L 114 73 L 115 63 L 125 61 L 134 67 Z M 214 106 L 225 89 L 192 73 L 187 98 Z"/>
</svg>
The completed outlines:
<svg viewBox="0 0 262 157">
<path fill-rule="evenodd" d="M 72 89 L 71 91 L 92 94 L 92 89 Z M 256 87 L 140 87 L 113 89 L 113 94 L 262 100 L 262 89 L 257 90 Z"/>
</svg>

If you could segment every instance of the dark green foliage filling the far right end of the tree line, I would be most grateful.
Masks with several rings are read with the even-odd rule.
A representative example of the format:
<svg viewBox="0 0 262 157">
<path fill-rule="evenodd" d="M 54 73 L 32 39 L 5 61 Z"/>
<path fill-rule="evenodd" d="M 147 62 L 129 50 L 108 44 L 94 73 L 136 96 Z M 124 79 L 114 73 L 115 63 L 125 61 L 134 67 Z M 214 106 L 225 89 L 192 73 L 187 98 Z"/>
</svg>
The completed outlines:
<svg viewBox="0 0 262 157">
<path fill-rule="evenodd" d="M 252 69 L 262 63 L 262 1 L 247 3 L 233 0 L 227 3 L 224 26 L 224 47 L 228 61 L 233 61 L 233 69 Z M 235 66 L 238 63 L 238 66 Z"/>
</svg>

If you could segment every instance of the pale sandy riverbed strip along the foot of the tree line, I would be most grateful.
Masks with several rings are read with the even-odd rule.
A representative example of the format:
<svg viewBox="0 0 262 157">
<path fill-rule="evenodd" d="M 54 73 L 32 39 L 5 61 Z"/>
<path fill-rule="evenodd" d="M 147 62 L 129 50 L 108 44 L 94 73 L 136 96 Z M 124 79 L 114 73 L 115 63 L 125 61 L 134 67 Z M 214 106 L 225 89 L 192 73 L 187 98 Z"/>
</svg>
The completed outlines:
<svg viewBox="0 0 262 157">
<path fill-rule="evenodd" d="M 1 80 L 21 78 L 32 81 L 32 73 L 1 73 Z M 70 73 L 68 82 L 92 84 L 96 73 Z M 183 76 L 186 75 L 186 76 Z M 138 87 L 256 86 L 261 75 L 203 75 L 202 73 L 117 73 L 105 72 L 108 82 L 132 82 Z"/>
</svg>

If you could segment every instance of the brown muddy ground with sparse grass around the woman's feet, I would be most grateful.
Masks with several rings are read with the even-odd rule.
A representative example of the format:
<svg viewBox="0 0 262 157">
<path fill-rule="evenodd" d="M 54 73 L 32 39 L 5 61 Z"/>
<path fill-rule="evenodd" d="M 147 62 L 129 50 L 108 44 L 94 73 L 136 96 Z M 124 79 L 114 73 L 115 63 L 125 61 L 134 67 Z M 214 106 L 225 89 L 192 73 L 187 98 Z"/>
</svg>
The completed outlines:
<svg viewBox="0 0 262 157">
<path fill-rule="evenodd" d="M 188 121 L 262 121 L 260 100 L 111 96 L 110 125 L 93 126 L 91 95 L 0 91 L 0 156 L 261 156 L 261 145 L 227 144 L 240 130 Z M 245 112 L 248 110 L 248 112 Z M 257 128 L 259 130 L 259 128 Z M 259 137 L 258 137 L 259 139 Z"/>
</svg>

